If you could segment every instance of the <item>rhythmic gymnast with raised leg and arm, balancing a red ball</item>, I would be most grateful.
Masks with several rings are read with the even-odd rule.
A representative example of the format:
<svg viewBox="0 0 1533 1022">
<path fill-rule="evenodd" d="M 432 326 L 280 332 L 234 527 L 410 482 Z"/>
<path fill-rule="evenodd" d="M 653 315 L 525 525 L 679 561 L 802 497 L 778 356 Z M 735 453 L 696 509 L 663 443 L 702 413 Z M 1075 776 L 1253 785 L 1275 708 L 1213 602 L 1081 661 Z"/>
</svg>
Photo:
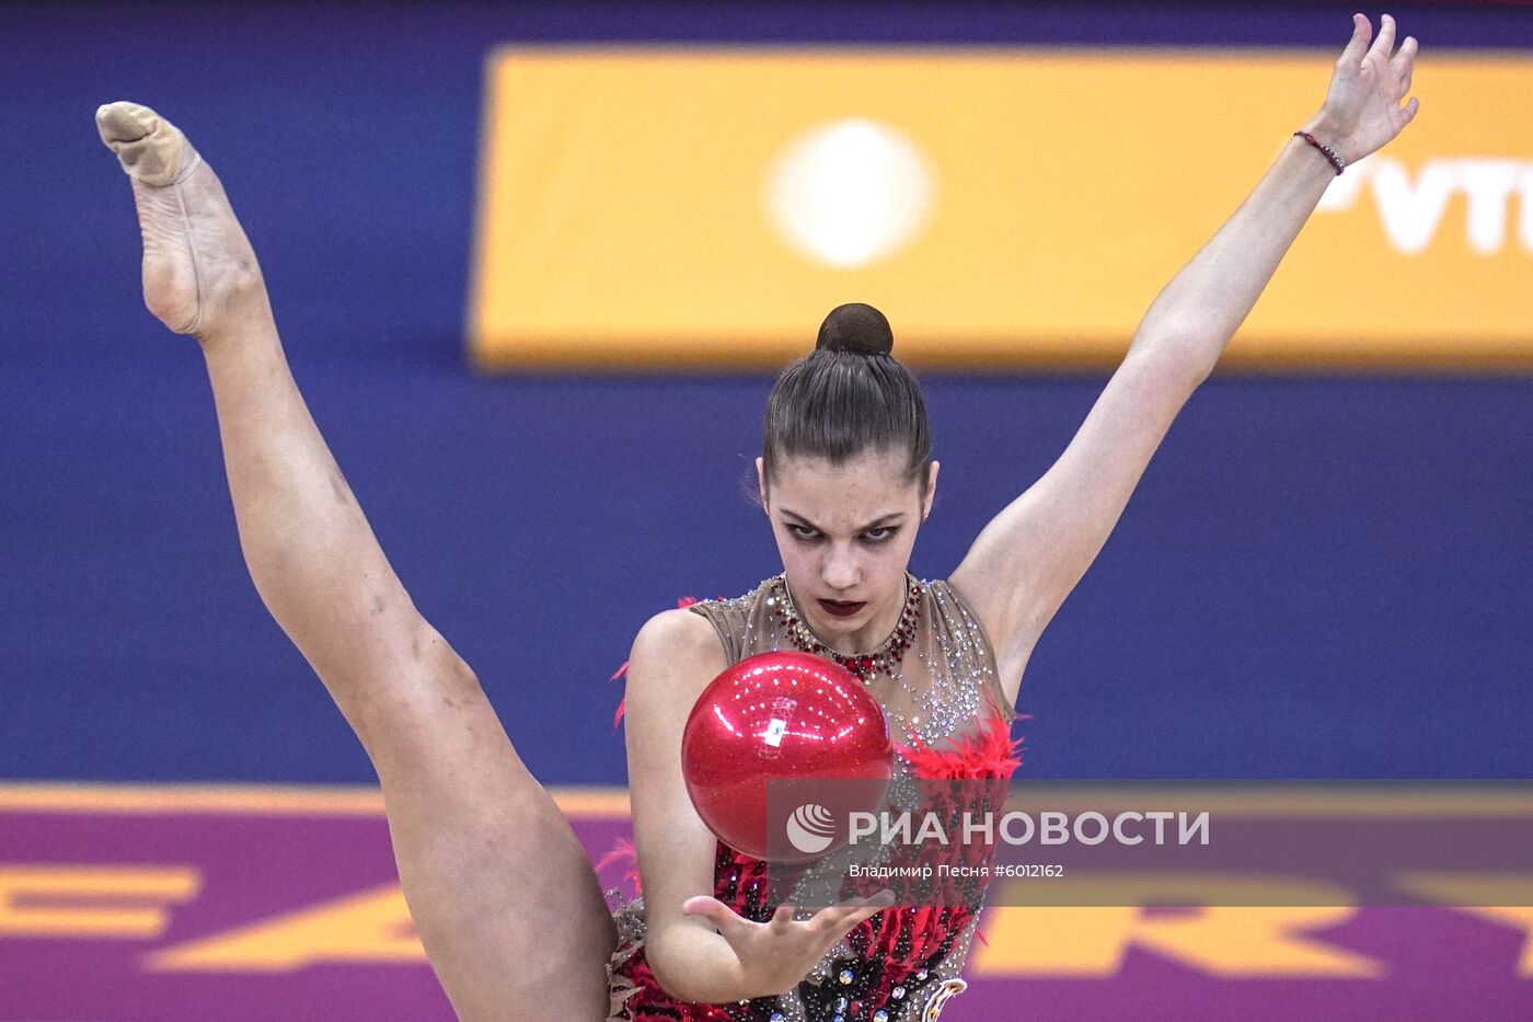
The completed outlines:
<svg viewBox="0 0 1533 1022">
<path fill-rule="evenodd" d="M 213 169 L 153 110 L 97 112 L 132 180 L 144 301 L 201 345 L 256 589 L 377 770 L 426 954 L 466 1019 L 935 1019 L 975 919 L 849 901 L 776 904 L 719 846 L 681 778 L 687 710 L 731 661 L 776 646 L 840 660 L 903 740 L 1000 735 L 1038 637 L 1096 557 L 1162 436 L 1341 169 L 1415 117 L 1416 43 L 1355 15 L 1303 132 L 1160 292 L 1059 460 L 975 539 L 947 582 L 906 572 L 932 506 L 920 390 L 883 316 L 832 313 L 779 377 L 757 462 L 783 572 L 639 632 L 627 695 L 644 901 L 604 901 L 569 823 L 474 672 L 415 611 L 288 373 L 254 252 Z M 1194 140 L 1199 163 L 1217 140 Z M 1188 173 L 1196 167 L 1190 164 Z M 1015 763 L 1015 761 L 1012 761 Z M 806 916 L 806 918 L 800 918 Z"/>
</svg>

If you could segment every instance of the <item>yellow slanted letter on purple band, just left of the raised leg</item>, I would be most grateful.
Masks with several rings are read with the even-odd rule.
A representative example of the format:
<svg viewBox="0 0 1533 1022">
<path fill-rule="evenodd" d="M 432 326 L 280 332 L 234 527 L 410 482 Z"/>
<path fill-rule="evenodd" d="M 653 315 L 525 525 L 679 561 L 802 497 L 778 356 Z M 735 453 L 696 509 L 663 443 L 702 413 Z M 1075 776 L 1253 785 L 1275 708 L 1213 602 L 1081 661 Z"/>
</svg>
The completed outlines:
<svg viewBox="0 0 1533 1022">
<path fill-rule="evenodd" d="M 150 954 L 152 971 L 285 973 L 322 962 L 425 962 L 399 884 L 178 944 Z"/>
</svg>

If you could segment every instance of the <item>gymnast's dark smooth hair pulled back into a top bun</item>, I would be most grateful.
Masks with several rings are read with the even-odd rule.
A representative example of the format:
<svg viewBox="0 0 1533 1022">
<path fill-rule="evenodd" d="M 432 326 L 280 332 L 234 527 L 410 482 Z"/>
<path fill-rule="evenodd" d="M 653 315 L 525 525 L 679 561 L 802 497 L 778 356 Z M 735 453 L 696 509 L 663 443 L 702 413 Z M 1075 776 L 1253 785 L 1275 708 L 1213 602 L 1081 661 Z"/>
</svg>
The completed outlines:
<svg viewBox="0 0 1533 1022">
<path fill-rule="evenodd" d="M 831 310 L 814 351 L 785 368 L 766 397 L 766 482 L 786 457 L 840 465 L 868 451 L 903 456 L 906 479 L 924 482 L 932 463 L 926 402 L 892 350 L 889 321 L 872 305 Z"/>
</svg>

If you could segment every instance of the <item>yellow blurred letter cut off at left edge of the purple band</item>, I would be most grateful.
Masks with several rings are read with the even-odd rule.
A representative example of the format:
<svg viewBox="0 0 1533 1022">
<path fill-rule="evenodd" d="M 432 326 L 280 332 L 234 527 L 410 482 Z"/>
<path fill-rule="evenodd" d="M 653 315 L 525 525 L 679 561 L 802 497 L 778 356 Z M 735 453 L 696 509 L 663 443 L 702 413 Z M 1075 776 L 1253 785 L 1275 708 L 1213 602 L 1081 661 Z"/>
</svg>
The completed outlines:
<svg viewBox="0 0 1533 1022">
<path fill-rule="evenodd" d="M 0 865 L 0 938 L 152 941 L 167 905 L 196 898 L 184 865 Z"/>
</svg>

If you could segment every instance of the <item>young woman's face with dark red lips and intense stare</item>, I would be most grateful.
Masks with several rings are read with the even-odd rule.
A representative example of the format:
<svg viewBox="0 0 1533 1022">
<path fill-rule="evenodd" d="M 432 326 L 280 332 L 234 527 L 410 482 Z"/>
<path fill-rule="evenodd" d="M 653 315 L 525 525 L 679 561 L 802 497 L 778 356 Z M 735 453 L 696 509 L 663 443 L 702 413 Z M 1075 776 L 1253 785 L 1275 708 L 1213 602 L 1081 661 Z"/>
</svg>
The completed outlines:
<svg viewBox="0 0 1533 1022">
<path fill-rule="evenodd" d="M 898 618 L 911 548 L 935 493 L 935 463 L 921 486 L 892 451 L 842 465 L 786 457 L 762 479 L 788 586 L 809 628 L 826 640 L 883 640 L 874 632 Z"/>
</svg>

